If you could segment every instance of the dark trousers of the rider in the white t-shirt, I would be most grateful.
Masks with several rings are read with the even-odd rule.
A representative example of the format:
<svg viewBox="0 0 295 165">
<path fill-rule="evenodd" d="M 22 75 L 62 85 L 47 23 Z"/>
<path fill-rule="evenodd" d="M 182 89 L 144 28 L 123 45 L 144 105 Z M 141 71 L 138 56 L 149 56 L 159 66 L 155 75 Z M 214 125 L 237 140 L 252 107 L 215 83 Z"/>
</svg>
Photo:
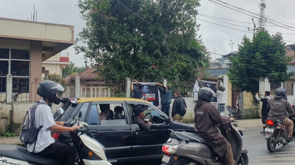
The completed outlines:
<svg viewBox="0 0 295 165">
<path fill-rule="evenodd" d="M 34 154 L 47 158 L 58 158 L 59 165 L 73 165 L 77 157 L 77 150 L 68 144 L 54 142 L 43 151 Z"/>
</svg>

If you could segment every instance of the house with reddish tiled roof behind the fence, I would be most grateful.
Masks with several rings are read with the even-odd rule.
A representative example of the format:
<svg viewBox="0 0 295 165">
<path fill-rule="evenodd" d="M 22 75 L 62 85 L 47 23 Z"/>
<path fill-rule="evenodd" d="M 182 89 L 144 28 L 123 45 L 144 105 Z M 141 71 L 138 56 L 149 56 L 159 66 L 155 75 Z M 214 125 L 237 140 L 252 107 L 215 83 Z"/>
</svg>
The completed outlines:
<svg viewBox="0 0 295 165">
<path fill-rule="evenodd" d="M 67 97 L 75 96 L 75 79 L 80 78 L 80 98 L 82 97 L 110 97 L 110 88 L 105 85 L 105 80 L 95 68 L 87 68 L 81 73 L 66 77 Z"/>
</svg>

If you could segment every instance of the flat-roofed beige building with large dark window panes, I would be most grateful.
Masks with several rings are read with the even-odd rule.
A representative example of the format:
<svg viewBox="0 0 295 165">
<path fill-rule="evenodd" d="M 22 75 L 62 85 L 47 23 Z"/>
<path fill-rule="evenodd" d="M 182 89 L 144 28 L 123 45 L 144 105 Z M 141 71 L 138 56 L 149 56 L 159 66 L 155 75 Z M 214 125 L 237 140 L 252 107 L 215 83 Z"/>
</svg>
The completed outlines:
<svg viewBox="0 0 295 165">
<path fill-rule="evenodd" d="M 73 43 L 74 26 L 0 18 L 0 102 L 40 100 L 42 62 Z"/>
</svg>

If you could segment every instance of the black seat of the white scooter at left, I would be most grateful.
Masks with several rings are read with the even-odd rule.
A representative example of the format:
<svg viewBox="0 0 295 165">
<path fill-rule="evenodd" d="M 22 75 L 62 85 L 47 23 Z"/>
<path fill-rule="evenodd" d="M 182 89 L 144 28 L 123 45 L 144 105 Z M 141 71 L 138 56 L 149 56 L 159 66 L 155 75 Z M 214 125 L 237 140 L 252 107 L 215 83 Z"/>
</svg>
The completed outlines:
<svg viewBox="0 0 295 165">
<path fill-rule="evenodd" d="M 27 148 L 20 147 L 17 145 L 0 145 L 0 155 L 13 159 L 27 161 L 28 163 L 42 165 L 52 165 L 55 162 L 57 162 L 57 159 L 49 159 L 32 154 L 27 150 Z"/>
</svg>

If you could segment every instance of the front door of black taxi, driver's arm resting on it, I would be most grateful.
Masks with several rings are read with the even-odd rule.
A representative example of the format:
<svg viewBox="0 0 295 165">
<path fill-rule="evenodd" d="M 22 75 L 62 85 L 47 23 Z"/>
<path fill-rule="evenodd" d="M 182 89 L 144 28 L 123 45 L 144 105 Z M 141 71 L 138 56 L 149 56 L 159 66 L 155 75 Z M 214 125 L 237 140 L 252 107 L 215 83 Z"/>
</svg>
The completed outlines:
<svg viewBox="0 0 295 165">
<path fill-rule="evenodd" d="M 130 124 L 132 131 L 132 156 L 160 156 L 163 154 L 163 144 L 169 139 L 169 134 L 166 129 L 171 129 L 172 123 L 168 123 L 168 117 L 161 110 L 148 102 L 127 101 L 126 106 L 131 116 L 133 115 L 132 107 L 138 104 L 147 107 L 144 114 L 153 114 L 154 123 L 149 130 L 142 130 L 138 124 Z M 158 119 L 159 117 L 161 119 Z"/>
</svg>

